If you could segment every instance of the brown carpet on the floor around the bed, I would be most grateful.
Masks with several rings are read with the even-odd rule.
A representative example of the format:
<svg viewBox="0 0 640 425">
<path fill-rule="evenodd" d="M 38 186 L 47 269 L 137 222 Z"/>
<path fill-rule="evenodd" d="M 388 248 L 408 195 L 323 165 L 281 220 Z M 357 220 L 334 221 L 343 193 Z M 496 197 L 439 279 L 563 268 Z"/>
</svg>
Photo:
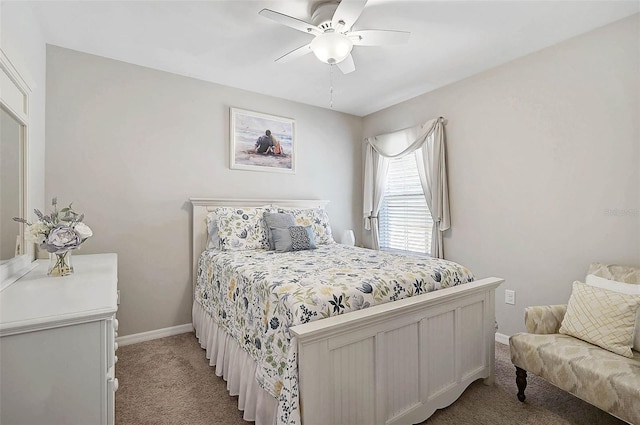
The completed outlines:
<svg viewBox="0 0 640 425">
<path fill-rule="evenodd" d="M 118 350 L 116 424 L 247 425 L 226 382 L 209 367 L 193 333 Z M 516 398 L 509 348 L 496 344 L 496 383 L 474 382 L 424 425 L 622 425 L 624 422 L 529 375 L 527 399 Z M 330 425 L 330 424 L 327 424 Z"/>
</svg>

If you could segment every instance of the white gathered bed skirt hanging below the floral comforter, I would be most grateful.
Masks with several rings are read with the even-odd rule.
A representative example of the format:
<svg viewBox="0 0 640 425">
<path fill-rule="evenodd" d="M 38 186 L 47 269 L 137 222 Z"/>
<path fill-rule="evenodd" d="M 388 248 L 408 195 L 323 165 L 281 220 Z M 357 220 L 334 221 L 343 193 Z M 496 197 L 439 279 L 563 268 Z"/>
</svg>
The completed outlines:
<svg viewBox="0 0 640 425">
<path fill-rule="evenodd" d="M 209 365 L 216 367 L 216 375 L 227 381 L 229 395 L 238 396 L 238 409 L 245 421 L 256 425 L 274 425 L 278 401 L 262 389 L 255 379 L 256 362 L 223 329 L 207 311 L 194 301 L 193 326 L 200 346 L 206 350 Z"/>
</svg>

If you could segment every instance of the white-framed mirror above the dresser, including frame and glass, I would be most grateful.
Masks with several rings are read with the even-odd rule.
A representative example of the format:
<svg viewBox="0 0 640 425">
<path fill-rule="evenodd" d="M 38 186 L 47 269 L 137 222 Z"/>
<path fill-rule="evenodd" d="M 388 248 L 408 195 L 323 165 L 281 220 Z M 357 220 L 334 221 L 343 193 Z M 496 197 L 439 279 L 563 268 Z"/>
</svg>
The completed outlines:
<svg viewBox="0 0 640 425">
<path fill-rule="evenodd" d="M 31 89 L 0 49 L 0 290 L 31 270 L 34 244 L 24 239 L 28 205 L 29 95 Z"/>
</svg>

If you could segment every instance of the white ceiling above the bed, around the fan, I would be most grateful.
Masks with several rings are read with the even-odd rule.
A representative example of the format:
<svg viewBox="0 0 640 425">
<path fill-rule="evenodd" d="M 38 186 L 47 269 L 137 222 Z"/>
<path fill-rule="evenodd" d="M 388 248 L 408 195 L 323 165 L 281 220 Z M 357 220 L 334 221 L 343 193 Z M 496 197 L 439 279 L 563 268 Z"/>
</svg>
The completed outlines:
<svg viewBox="0 0 640 425">
<path fill-rule="evenodd" d="M 308 34 L 258 15 L 310 20 L 313 0 L 30 1 L 47 43 L 329 108 L 330 67 L 274 63 Z M 354 29 L 410 31 L 407 45 L 357 46 L 333 70 L 333 109 L 364 116 L 640 11 L 632 1 L 369 0 Z M 10 18 L 3 16 L 3 19 Z"/>
</svg>

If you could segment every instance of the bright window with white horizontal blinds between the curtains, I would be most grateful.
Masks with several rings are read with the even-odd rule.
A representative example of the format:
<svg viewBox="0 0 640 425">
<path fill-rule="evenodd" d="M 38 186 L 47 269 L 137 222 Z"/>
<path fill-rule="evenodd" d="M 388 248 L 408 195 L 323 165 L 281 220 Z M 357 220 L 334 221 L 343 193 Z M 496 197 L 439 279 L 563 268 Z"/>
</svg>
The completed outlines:
<svg viewBox="0 0 640 425">
<path fill-rule="evenodd" d="M 433 219 L 414 154 L 390 161 L 378 223 L 380 249 L 430 254 Z"/>
</svg>

